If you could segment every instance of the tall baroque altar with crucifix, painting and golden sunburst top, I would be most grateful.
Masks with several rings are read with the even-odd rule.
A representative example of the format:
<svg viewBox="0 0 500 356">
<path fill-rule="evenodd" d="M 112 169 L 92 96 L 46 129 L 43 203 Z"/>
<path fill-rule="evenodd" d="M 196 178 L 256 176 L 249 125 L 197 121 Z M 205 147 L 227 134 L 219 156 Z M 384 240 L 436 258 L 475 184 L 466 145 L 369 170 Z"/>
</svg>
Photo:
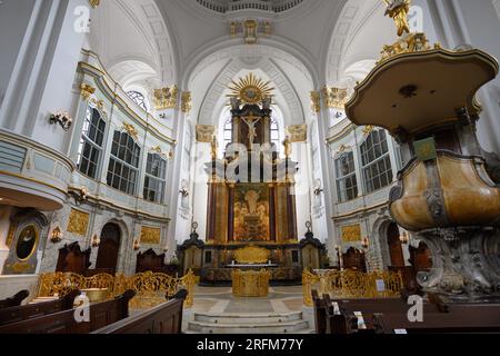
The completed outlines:
<svg viewBox="0 0 500 356">
<path fill-rule="evenodd" d="M 223 157 L 218 157 L 213 137 L 211 161 L 206 167 L 210 178 L 203 250 L 210 258 L 202 279 L 231 280 L 231 267 L 239 260 L 239 265 L 266 267 L 273 280 L 300 280 L 294 197 L 298 164 L 290 158 L 290 139 L 282 142 L 283 157 L 271 140 L 272 89 L 250 73 L 233 82 L 231 90 L 231 141 Z M 252 248 L 264 250 L 267 257 L 256 255 L 246 261 L 238 257 Z"/>
</svg>

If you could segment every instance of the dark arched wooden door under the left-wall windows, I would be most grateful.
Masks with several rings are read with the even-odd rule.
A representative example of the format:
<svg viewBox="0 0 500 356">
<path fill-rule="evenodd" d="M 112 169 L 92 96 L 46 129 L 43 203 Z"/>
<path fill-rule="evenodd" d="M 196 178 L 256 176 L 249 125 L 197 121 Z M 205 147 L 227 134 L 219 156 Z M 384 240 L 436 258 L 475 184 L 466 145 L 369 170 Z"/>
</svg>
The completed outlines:
<svg viewBox="0 0 500 356">
<path fill-rule="evenodd" d="M 118 254 L 120 250 L 120 227 L 108 224 L 101 233 L 96 269 L 103 273 L 114 274 L 117 271 Z"/>
</svg>

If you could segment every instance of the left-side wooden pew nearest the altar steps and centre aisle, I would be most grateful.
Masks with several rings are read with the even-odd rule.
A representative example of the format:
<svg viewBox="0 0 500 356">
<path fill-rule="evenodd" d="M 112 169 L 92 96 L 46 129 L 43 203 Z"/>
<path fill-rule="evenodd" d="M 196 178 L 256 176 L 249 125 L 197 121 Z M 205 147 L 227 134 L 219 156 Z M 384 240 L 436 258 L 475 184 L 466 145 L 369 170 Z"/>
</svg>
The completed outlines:
<svg viewBox="0 0 500 356">
<path fill-rule="evenodd" d="M 152 309 L 106 326 L 92 334 L 180 334 L 182 332 L 182 305 L 188 296 L 186 289 L 169 301 Z M 168 296 L 166 296 L 167 299 Z"/>
</svg>

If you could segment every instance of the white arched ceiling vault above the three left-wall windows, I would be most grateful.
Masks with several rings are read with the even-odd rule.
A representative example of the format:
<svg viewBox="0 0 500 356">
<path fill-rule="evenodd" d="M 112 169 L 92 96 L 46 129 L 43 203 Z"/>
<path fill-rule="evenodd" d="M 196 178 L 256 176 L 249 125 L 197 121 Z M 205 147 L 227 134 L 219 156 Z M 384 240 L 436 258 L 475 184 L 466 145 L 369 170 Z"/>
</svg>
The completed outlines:
<svg viewBox="0 0 500 356">
<path fill-rule="evenodd" d="M 131 77 L 154 79 L 158 85 L 177 81 L 176 51 L 153 0 L 101 1 L 92 18 L 89 43 L 122 86 L 122 79 Z"/>
</svg>

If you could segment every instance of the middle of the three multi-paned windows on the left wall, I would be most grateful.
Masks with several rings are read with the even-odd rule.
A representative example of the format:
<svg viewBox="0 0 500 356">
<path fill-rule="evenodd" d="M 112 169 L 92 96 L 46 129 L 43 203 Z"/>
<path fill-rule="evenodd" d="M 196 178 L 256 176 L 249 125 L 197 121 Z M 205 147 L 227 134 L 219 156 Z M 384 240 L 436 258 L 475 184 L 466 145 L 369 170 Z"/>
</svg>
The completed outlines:
<svg viewBox="0 0 500 356">
<path fill-rule="evenodd" d="M 114 131 L 109 159 L 108 186 L 123 192 L 136 192 L 140 157 L 139 145 L 127 132 Z"/>
</svg>

